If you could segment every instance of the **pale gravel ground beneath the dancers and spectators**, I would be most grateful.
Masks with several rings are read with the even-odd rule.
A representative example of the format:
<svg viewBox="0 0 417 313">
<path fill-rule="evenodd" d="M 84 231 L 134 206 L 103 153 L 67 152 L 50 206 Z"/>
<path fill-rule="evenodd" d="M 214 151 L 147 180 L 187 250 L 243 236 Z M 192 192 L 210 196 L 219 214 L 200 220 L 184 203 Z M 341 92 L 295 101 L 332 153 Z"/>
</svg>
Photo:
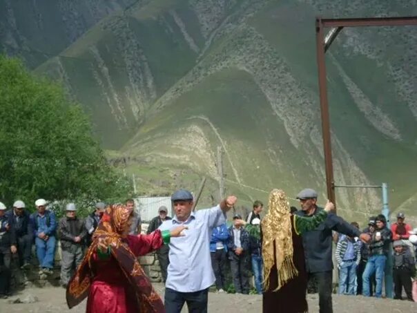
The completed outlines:
<svg viewBox="0 0 417 313">
<path fill-rule="evenodd" d="M 155 284 L 160 294 L 164 293 L 162 284 Z M 37 298 L 35 303 L 10 303 L 17 298 L 30 300 Z M 318 313 L 318 296 L 309 295 L 310 313 Z M 86 310 L 86 301 L 77 307 L 68 310 L 65 301 L 65 292 L 61 287 L 32 287 L 15 294 L 8 299 L 0 300 L 0 312 L 14 313 L 47 313 L 47 312 L 72 312 L 81 313 Z M 242 294 L 209 294 L 209 312 L 262 312 L 262 296 Z M 338 296 L 333 295 L 333 311 L 335 313 L 361 313 L 361 312 L 417 312 L 417 303 L 409 301 L 396 301 L 390 299 L 365 298 L 362 296 Z M 186 309 L 182 312 L 187 312 Z M 284 312 L 282 312 L 284 313 Z"/>
</svg>

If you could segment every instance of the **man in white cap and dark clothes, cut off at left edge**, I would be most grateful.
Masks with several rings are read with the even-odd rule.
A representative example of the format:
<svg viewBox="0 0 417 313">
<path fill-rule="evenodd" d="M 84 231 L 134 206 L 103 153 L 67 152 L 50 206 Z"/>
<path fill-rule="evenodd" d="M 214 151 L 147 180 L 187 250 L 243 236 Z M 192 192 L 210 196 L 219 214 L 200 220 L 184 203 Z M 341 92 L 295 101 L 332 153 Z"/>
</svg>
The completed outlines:
<svg viewBox="0 0 417 313">
<path fill-rule="evenodd" d="M 10 263 L 17 252 L 16 233 L 10 218 L 6 215 L 6 205 L 0 202 L 0 298 L 10 295 Z"/>
</svg>

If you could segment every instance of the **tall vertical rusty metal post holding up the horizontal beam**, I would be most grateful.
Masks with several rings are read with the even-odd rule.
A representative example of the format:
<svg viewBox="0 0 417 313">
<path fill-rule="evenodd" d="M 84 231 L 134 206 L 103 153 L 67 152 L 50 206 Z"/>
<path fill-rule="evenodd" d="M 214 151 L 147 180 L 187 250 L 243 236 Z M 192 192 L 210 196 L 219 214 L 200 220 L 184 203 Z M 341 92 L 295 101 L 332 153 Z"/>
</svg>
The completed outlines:
<svg viewBox="0 0 417 313">
<path fill-rule="evenodd" d="M 326 61 L 324 57 L 324 32 L 321 18 L 316 19 L 316 45 L 318 65 L 318 87 L 320 92 L 320 112 L 322 115 L 324 163 L 326 167 L 327 197 L 331 202 L 335 204 L 336 207 L 336 195 L 333 187 L 333 161 L 331 158 L 329 103 L 327 101 Z"/>
</svg>

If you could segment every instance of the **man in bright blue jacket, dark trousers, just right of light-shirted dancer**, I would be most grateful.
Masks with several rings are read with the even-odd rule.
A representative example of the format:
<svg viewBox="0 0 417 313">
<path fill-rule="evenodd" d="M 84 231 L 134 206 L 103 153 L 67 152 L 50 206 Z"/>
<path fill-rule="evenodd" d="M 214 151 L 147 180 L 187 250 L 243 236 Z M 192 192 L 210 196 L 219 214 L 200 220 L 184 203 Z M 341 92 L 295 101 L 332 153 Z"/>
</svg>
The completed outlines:
<svg viewBox="0 0 417 313">
<path fill-rule="evenodd" d="M 226 222 L 213 228 L 210 240 L 211 266 L 215 276 L 217 292 L 224 292 L 226 285 L 227 240 L 229 231 Z"/>
</svg>

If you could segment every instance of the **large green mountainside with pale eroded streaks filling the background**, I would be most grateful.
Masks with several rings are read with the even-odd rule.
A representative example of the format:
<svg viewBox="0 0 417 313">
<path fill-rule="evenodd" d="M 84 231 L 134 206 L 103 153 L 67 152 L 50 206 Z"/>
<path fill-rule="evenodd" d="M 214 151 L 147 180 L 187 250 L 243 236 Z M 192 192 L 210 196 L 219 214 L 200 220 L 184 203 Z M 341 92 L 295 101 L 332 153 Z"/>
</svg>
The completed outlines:
<svg viewBox="0 0 417 313">
<path fill-rule="evenodd" d="M 222 146 L 226 191 L 242 205 L 266 202 L 274 187 L 291 197 L 313 187 L 324 202 L 314 19 L 416 8 L 388 0 L 137 1 L 62 44 L 36 71 L 61 79 L 84 105 L 110 158 L 127 158 L 141 193 L 196 190 L 206 176 L 202 205 L 215 202 Z M 415 224 L 416 44 L 416 28 L 345 28 L 327 53 L 336 183 L 387 182 L 391 209 Z M 349 219 L 381 207 L 378 189 L 338 189 L 337 199 Z"/>
</svg>

